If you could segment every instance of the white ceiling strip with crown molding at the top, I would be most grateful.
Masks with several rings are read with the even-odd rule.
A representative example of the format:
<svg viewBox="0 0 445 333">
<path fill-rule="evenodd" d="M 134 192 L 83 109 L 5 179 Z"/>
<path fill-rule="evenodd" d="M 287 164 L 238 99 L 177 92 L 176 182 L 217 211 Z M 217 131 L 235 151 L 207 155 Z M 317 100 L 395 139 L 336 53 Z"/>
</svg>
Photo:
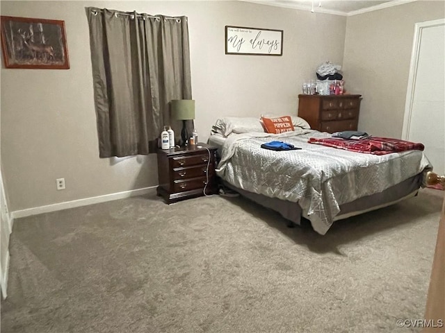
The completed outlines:
<svg viewBox="0 0 445 333">
<path fill-rule="evenodd" d="M 350 1 L 350 0 L 242 0 L 254 3 L 262 3 L 269 6 L 295 8 L 300 10 L 312 10 L 335 15 L 356 15 L 382 8 L 397 6 L 415 0 L 390 0 L 390 1 Z M 321 5 L 321 6 L 319 6 Z"/>
</svg>

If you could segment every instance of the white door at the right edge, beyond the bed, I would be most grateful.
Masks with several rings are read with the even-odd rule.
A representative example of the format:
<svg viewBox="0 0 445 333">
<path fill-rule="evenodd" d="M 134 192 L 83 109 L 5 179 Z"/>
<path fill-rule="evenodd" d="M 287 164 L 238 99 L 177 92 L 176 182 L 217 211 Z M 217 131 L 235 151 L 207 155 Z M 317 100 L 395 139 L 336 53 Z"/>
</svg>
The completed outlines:
<svg viewBox="0 0 445 333">
<path fill-rule="evenodd" d="M 416 24 L 402 138 L 445 174 L 445 19 Z"/>
</svg>

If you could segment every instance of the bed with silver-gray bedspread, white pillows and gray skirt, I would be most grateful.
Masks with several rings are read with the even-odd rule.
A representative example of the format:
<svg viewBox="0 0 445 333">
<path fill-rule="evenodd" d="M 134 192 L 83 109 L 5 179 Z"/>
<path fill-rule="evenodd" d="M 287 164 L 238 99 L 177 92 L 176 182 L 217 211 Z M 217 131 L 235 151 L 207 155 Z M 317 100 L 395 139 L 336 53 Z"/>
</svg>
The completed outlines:
<svg viewBox="0 0 445 333">
<path fill-rule="evenodd" d="M 415 196 L 432 166 L 420 150 L 373 155 L 309 143 L 330 133 L 291 117 L 293 130 L 267 133 L 259 118 L 225 117 L 212 128 L 218 147 L 216 173 L 223 184 L 282 214 L 291 223 L 308 219 L 319 234 L 334 221 Z M 272 151 L 270 141 L 300 148 Z"/>
</svg>

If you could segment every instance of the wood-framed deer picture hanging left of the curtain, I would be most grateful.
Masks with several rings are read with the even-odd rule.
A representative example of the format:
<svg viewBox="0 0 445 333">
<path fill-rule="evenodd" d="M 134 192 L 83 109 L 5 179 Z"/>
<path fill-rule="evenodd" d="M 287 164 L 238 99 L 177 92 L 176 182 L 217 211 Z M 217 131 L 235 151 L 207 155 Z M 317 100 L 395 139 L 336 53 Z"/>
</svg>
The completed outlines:
<svg viewBox="0 0 445 333">
<path fill-rule="evenodd" d="M 6 68 L 69 69 L 65 22 L 1 16 Z"/>
</svg>

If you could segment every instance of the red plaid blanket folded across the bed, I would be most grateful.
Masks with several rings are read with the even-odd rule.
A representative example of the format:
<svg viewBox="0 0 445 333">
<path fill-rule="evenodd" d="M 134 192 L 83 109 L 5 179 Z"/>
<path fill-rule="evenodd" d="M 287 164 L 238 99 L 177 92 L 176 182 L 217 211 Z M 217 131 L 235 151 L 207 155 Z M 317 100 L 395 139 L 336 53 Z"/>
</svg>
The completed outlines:
<svg viewBox="0 0 445 333">
<path fill-rule="evenodd" d="M 401 151 L 423 151 L 423 144 L 404 141 L 400 139 L 391 139 L 389 137 L 369 137 L 362 140 L 347 140 L 334 137 L 318 139 L 310 137 L 309 143 L 321 144 L 323 146 L 345 149 L 346 151 L 355 151 L 357 153 L 366 153 L 374 155 L 385 155 L 390 153 L 399 153 Z"/>
</svg>

